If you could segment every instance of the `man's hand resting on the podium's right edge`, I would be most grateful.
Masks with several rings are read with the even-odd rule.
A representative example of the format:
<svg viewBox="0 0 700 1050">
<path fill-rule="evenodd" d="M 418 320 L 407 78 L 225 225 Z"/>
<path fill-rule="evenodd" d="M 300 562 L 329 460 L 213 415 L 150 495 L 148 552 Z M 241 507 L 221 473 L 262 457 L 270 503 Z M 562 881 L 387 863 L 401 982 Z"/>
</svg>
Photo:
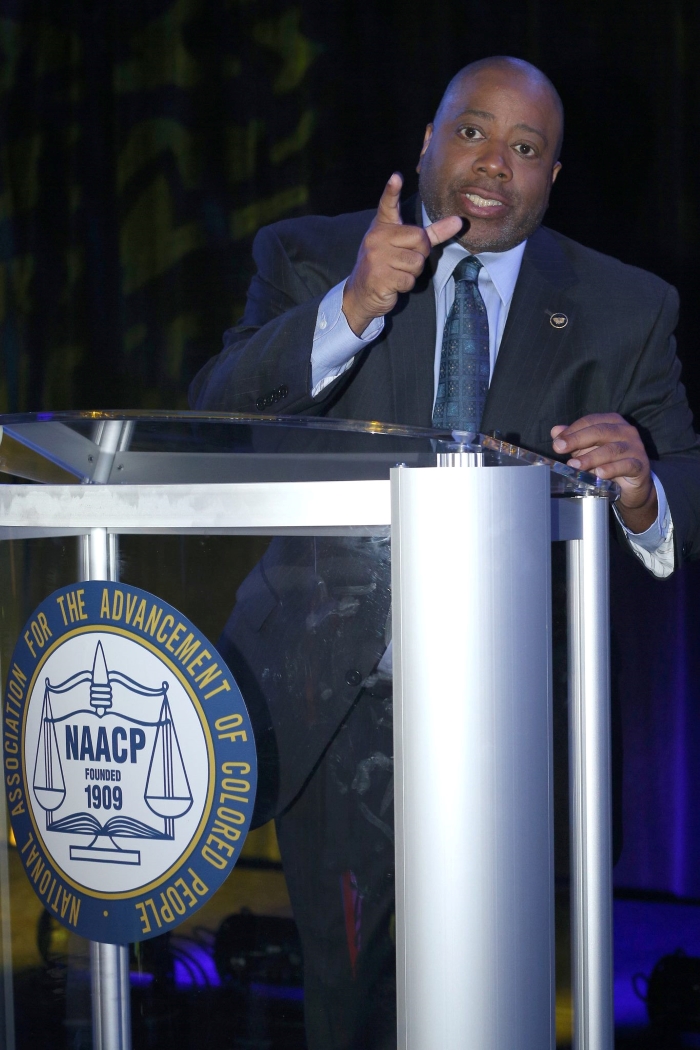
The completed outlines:
<svg viewBox="0 0 700 1050">
<path fill-rule="evenodd" d="M 584 416 L 570 426 L 553 426 L 550 433 L 554 452 L 569 455 L 569 466 L 617 482 L 621 496 L 616 507 L 631 532 L 651 528 L 658 501 L 649 457 L 636 426 L 611 412 Z"/>
</svg>

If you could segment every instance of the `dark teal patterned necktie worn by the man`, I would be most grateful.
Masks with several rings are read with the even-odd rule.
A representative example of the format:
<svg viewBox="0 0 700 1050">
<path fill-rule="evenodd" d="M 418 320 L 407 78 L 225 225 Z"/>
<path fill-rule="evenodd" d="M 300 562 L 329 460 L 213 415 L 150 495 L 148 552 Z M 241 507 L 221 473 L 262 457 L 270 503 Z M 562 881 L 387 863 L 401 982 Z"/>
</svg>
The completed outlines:
<svg viewBox="0 0 700 1050">
<path fill-rule="evenodd" d="M 443 332 L 432 425 L 479 432 L 489 388 L 489 322 L 479 291 L 482 264 L 468 255 L 454 267 L 454 302 Z"/>
</svg>

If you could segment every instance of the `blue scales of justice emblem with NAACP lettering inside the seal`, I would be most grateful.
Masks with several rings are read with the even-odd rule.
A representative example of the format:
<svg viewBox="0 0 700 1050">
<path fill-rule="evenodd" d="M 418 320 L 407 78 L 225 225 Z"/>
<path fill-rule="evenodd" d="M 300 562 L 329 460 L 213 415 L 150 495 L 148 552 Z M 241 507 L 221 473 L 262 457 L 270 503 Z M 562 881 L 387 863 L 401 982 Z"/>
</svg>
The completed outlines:
<svg viewBox="0 0 700 1050">
<path fill-rule="evenodd" d="M 131 710 L 119 709 L 115 687 L 122 697 L 132 700 L 127 705 Z M 61 709 L 67 704 L 71 710 L 55 715 L 59 696 Z M 89 706 L 73 707 L 70 702 L 75 698 L 84 705 L 88 697 Z M 139 716 L 133 710 L 137 698 L 142 698 Z M 156 717 L 143 717 L 156 704 Z M 64 761 L 77 761 L 94 779 L 86 774 L 85 783 L 79 785 L 85 794 L 85 807 L 62 814 L 67 794 Z M 133 800 L 133 791 L 127 792 L 125 782 L 134 780 L 140 808 L 143 811 L 145 804 L 150 819 L 125 812 L 128 798 Z M 175 821 L 189 813 L 193 795 L 168 699 L 168 682 L 150 687 L 122 671 L 109 670 L 101 640 L 91 670 L 78 671 L 60 682 L 46 677 L 33 791 L 45 813 L 46 832 L 91 837 L 86 845 L 70 845 L 71 861 L 141 865 L 141 849 L 122 845 L 124 840 L 172 842 Z M 75 799 L 76 792 L 71 794 Z"/>
</svg>

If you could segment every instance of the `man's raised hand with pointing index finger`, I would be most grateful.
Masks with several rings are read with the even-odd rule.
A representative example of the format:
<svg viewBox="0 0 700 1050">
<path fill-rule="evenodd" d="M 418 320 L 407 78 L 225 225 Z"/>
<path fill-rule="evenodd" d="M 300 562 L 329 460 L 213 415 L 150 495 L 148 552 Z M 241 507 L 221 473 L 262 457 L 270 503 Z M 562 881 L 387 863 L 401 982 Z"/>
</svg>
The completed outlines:
<svg viewBox="0 0 700 1050">
<path fill-rule="evenodd" d="M 356 335 L 362 335 L 375 317 L 388 314 L 399 294 L 412 289 L 430 250 L 462 229 L 459 215 L 441 218 L 425 229 L 404 226 L 399 207 L 402 186 L 403 178 L 395 171 L 345 282 L 343 313 Z"/>
</svg>

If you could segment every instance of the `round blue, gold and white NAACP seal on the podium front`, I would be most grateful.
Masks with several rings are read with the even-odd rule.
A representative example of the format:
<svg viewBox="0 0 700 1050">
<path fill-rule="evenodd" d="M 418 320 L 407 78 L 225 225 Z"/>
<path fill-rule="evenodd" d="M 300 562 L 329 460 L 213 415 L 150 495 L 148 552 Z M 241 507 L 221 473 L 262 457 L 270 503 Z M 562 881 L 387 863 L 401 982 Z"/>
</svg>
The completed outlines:
<svg viewBox="0 0 700 1050">
<path fill-rule="evenodd" d="M 10 820 L 27 876 L 93 941 L 155 937 L 234 866 L 256 761 L 240 691 L 176 609 L 122 584 L 49 595 L 5 689 Z"/>
</svg>

